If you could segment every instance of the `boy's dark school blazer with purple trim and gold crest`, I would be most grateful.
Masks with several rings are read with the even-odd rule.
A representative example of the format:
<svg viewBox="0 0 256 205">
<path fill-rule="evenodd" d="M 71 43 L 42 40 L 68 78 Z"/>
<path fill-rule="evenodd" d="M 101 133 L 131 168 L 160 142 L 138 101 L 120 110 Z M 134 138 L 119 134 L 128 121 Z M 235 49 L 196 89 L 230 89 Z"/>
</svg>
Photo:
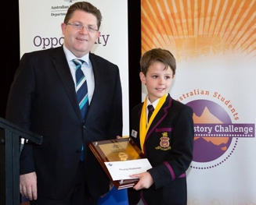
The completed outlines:
<svg viewBox="0 0 256 205">
<path fill-rule="evenodd" d="M 139 147 L 142 104 L 135 106 L 131 114 L 131 136 Z M 138 132 L 137 135 L 133 130 Z M 186 204 L 186 170 L 193 157 L 193 138 L 192 108 L 173 100 L 168 94 L 144 143 L 144 154 L 153 167 L 149 170 L 153 186 L 140 193 L 128 189 L 130 204 L 136 204 L 139 194 L 147 204 Z"/>
</svg>

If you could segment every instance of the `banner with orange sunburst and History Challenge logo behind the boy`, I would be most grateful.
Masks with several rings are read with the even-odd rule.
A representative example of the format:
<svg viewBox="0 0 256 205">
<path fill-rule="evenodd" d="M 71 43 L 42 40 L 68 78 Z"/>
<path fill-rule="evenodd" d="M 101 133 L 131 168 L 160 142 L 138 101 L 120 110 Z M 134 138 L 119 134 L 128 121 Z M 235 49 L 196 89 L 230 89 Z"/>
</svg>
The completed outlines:
<svg viewBox="0 0 256 205">
<path fill-rule="evenodd" d="M 193 108 L 188 204 L 256 204 L 255 8 L 256 0 L 141 1 L 142 54 L 172 52 L 171 96 Z"/>
</svg>

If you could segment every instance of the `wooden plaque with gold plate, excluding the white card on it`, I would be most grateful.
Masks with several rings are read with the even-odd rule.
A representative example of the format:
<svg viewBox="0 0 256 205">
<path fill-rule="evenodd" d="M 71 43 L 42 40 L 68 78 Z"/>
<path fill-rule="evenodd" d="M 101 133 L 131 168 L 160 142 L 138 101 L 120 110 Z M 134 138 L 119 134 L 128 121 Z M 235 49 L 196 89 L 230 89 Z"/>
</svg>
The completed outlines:
<svg viewBox="0 0 256 205">
<path fill-rule="evenodd" d="M 92 142 L 88 143 L 88 147 L 117 189 L 133 187 L 139 181 L 139 178 L 114 181 L 105 164 L 107 161 L 130 161 L 146 158 L 132 138 Z"/>
</svg>

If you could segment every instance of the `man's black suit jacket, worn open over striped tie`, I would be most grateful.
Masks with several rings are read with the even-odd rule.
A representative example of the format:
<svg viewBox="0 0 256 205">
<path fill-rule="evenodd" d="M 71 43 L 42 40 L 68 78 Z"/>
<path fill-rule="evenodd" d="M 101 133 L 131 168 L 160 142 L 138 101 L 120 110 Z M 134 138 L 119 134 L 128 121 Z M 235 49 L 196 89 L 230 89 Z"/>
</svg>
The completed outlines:
<svg viewBox="0 0 256 205">
<path fill-rule="evenodd" d="M 89 58 L 95 90 L 85 122 L 62 47 L 24 54 L 16 70 L 6 119 L 43 136 L 41 146 L 26 143 L 20 157 L 20 174 L 36 171 L 41 196 L 67 196 L 82 143 L 90 193 L 98 197 L 109 190 L 109 178 L 87 143 L 121 136 L 121 81 L 117 65 L 97 55 Z"/>
</svg>

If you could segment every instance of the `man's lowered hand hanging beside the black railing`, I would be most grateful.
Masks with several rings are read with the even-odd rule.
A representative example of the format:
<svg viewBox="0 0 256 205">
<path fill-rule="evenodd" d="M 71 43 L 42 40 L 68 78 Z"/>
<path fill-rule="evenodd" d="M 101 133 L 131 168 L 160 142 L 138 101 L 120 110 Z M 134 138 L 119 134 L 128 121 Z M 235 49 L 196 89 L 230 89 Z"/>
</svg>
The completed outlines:
<svg viewBox="0 0 256 205">
<path fill-rule="evenodd" d="M 20 175 L 20 194 L 26 196 L 29 200 L 38 199 L 37 175 L 35 172 Z"/>
</svg>

